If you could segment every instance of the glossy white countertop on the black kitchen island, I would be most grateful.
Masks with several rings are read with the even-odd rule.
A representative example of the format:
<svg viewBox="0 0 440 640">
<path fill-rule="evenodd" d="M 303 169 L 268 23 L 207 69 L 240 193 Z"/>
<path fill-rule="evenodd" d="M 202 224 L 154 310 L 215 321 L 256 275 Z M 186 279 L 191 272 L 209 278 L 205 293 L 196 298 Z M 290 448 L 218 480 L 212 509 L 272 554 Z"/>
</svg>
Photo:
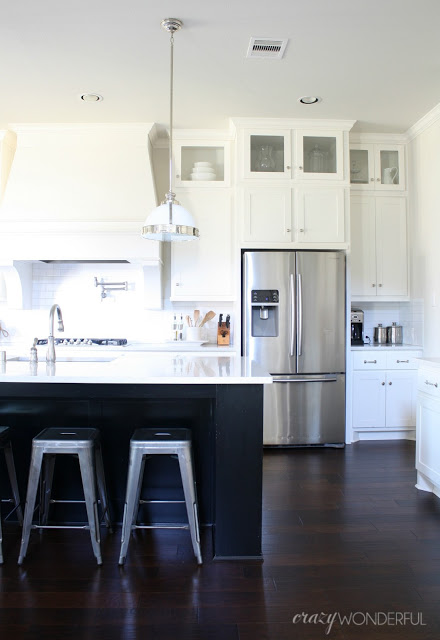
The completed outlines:
<svg viewBox="0 0 440 640">
<path fill-rule="evenodd" d="M 70 352 L 71 353 L 71 352 Z M 0 363 L 1 382 L 46 382 L 75 384 L 267 384 L 270 374 L 257 362 L 233 354 L 208 356 L 170 353 L 109 353 L 96 357 L 110 358 L 107 362 L 93 361 L 84 350 L 79 356 L 62 361 L 57 353 L 55 365 L 41 360 L 37 365 L 8 360 Z M 96 354 L 96 350 L 94 351 Z M 9 356 L 8 356 L 9 357 Z M 11 356 L 12 357 L 12 356 Z M 91 358 L 80 362 L 77 358 Z"/>
</svg>

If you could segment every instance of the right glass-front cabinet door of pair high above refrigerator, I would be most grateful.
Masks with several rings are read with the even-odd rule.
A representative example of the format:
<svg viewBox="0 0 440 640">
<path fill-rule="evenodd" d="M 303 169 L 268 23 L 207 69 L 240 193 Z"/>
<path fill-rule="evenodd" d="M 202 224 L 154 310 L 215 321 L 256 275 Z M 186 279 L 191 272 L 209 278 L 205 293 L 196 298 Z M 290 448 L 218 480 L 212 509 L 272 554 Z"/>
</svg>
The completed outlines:
<svg viewBox="0 0 440 640">
<path fill-rule="evenodd" d="M 343 134 L 296 131 L 295 177 L 301 180 L 343 180 Z"/>
</svg>

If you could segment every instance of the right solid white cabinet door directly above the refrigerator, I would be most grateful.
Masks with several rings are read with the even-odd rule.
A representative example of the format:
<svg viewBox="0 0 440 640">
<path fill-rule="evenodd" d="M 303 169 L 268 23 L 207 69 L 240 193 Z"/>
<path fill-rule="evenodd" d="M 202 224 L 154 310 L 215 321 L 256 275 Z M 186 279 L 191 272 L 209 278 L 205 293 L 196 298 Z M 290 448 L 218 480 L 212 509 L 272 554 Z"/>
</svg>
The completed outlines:
<svg viewBox="0 0 440 640">
<path fill-rule="evenodd" d="M 296 205 L 298 242 L 344 242 L 344 189 L 297 189 Z"/>
</svg>

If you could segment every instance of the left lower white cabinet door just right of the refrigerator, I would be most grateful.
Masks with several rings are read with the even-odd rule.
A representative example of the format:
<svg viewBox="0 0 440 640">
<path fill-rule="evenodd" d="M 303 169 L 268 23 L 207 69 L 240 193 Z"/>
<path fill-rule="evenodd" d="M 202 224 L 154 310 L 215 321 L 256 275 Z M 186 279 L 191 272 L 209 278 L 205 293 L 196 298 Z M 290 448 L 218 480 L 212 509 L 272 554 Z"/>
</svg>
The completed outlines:
<svg viewBox="0 0 440 640">
<path fill-rule="evenodd" d="M 385 371 L 353 373 L 353 428 L 385 426 Z"/>
</svg>

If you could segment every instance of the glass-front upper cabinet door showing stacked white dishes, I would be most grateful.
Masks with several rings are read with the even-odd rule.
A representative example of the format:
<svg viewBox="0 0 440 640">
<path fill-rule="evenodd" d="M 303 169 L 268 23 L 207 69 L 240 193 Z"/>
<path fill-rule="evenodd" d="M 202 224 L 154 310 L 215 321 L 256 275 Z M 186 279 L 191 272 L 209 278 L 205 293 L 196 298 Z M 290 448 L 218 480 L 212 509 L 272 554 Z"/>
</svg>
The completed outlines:
<svg viewBox="0 0 440 640">
<path fill-rule="evenodd" d="M 229 142 L 177 140 L 173 147 L 176 187 L 229 186 Z"/>
</svg>

